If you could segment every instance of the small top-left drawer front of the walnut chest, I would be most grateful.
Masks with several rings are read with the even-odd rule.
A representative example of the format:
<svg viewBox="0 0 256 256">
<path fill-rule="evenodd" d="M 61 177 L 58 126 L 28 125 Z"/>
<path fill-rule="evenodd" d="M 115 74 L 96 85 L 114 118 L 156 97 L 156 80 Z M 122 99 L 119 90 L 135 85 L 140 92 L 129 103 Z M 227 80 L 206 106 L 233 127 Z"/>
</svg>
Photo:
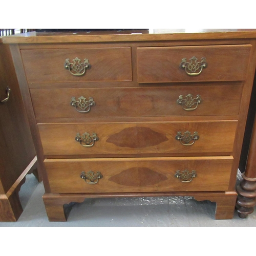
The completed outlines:
<svg viewBox="0 0 256 256">
<path fill-rule="evenodd" d="M 129 47 L 33 49 L 21 50 L 21 53 L 28 82 L 132 80 L 132 57 L 131 48 Z M 80 59 L 80 63 L 79 60 L 75 60 L 76 58 Z M 70 66 L 70 70 L 65 68 L 68 65 L 66 59 L 69 59 L 70 63 L 75 64 L 76 70 L 73 66 Z M 84 69 L 84 59 L 88 59 L 91 65 L 90 69 Z"/>
</svg>

